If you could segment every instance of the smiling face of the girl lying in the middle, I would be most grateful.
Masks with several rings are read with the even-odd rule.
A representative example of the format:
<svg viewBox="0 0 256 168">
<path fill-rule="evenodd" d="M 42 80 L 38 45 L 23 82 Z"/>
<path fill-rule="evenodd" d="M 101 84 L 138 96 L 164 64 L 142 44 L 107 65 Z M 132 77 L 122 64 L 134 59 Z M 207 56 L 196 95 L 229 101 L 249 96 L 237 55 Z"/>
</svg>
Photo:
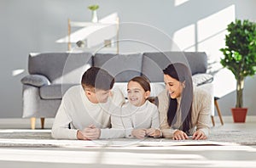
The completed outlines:
<svg viewBox="0 0 256 168">
<path fill-rule="evenodd" d="M 129 102 L 135 106 L 142 106 L 150 94 L 149 91 L 145 92 L 137 81 L 129 81 L 127 92 Z"/>
</svg>

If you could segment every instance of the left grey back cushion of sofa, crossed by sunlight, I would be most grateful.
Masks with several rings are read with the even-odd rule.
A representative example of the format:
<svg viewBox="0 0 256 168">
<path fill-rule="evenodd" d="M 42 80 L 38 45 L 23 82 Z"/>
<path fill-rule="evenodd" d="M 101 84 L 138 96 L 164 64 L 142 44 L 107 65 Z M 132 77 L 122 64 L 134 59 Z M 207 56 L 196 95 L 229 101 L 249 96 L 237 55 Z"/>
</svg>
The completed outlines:
<svg viewBox="0 0 256 168">
<path fill-rule="evenodd" d="M 91 53 L 30 53 L 28 72 L 46 76 L 51 83 L 80 83 L 92 66 Z"/>
</svg>

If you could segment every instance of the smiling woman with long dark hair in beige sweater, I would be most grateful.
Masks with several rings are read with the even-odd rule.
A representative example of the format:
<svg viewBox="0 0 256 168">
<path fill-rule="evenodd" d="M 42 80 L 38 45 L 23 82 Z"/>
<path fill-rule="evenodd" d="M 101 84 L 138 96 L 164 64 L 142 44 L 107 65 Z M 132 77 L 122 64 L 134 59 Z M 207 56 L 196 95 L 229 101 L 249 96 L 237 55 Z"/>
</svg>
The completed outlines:
<svg viewBox="0 0 256 168">
<path fill-rule="evenodd" d="M 163 137 L 207 139 L 211 95 L 198 87 L 193 90 L 191 72 L 185 64 L 170 64 L 163 72 L 166 90 L 158 96 Z"/>
</svg>

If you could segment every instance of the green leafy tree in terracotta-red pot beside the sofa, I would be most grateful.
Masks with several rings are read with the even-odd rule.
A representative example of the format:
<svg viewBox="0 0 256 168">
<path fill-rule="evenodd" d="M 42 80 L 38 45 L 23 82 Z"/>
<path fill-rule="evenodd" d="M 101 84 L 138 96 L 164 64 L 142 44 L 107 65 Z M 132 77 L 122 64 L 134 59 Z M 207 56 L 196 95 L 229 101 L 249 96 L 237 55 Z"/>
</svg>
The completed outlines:
<svg viewBox="0 0 256 168">
<path fill-rule="evenodd" d="M 245 122 L 247 108 L 243 108 L 244 80 L 256 74 L 256 24 L 249 20 L 231 22 L 225 36 L 224 58 L 220 63 L 236 77 L 236 108 L 231 109 L 234 122 Z M 237 112 L 244 110 L 244 112 Z"/>
</svg>

